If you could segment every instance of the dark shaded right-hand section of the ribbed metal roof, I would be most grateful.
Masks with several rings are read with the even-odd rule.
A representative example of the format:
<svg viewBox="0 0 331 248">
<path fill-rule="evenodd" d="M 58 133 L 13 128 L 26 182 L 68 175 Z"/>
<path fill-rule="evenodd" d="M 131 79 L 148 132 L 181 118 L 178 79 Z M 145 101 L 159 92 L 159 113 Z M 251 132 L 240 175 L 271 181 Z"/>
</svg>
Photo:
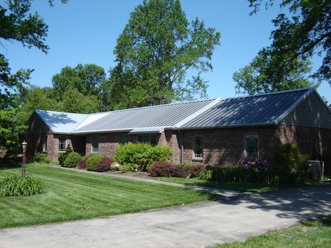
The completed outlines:
<svg viewBox="0 0 331 248">
<path fill-rule="evenodd" d="M 313 89 L 222 99 L 181 129 L 278 124 Z"/>
</svg>

